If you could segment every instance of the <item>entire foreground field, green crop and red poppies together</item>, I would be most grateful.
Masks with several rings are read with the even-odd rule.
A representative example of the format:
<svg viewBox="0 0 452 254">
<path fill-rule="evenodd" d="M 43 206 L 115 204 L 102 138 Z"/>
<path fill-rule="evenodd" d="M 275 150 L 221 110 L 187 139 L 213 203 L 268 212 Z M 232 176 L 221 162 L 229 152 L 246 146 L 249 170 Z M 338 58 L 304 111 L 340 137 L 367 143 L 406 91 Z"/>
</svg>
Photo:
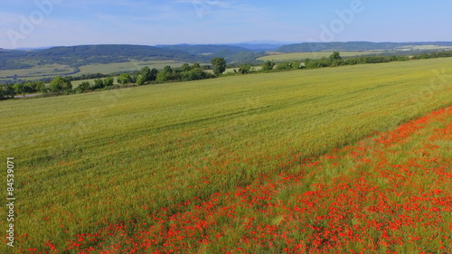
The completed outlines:
<svg viewBox="0 0 452 254">
<path fill-rule="evenodd" d="M 450 252 L 451 106 L 447 58 L 1 101 L 15 248 Z"/>
</svg>

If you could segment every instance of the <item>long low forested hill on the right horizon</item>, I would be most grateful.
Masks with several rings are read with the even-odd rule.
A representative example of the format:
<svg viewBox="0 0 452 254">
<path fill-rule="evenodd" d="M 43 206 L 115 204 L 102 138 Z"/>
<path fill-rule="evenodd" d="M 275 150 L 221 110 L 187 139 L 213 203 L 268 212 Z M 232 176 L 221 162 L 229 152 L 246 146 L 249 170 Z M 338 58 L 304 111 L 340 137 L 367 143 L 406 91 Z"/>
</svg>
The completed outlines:
<svg viewBox="0 0 452 254">
<path fill-rule="evenodd" d="M 452 42 L 304 42 L 279 47 L 276 52 L 323 52 L 323 51 L 388 51 L 403 47 L 435 45 L 452 47 Z"/>
</svg>

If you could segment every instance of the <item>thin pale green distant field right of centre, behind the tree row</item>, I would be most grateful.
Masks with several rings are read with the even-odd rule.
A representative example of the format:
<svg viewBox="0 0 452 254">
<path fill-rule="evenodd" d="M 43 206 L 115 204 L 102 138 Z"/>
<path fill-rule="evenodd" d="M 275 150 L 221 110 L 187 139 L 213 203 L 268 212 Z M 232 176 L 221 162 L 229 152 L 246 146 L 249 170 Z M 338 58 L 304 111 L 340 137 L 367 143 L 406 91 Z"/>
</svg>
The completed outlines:
<svg viewBox="0 0 452 254">
<path fill-rule="evenodd" d="M 340 52 L 343 57 L 360 56 L 372 53 L 381 52 Z M 268 56 L 259 57 L 261 61 L 295 61 L 309 59 L 321 59 L 322 57 L 329 57 L 332 52 L 297 52 L 297 53 L 280 53 L 273 52 Z"/>
</svg>

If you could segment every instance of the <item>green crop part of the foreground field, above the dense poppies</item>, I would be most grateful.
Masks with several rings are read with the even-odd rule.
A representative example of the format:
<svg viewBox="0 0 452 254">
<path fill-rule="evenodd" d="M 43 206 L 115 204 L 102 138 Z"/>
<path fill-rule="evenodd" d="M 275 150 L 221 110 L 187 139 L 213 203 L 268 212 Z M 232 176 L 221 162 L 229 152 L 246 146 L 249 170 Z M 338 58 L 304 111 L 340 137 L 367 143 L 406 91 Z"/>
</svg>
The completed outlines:
<svg viewBox="0 0 452 254">
<path fill-rule="evenodd" d="M 451 77 L 447 58 L 1 101 L 0 158 L 15 158 L 16 245 L 62 251 L 102 232 L 80 248 L 126 248 L 136 230 L 160 223 L 159 212 L 181 212 L 175 204 L 192 201 L 184 209 L 196 211 L 213 193 L 290 173 L 287 159 L 452 105 Z"/>
</svg>

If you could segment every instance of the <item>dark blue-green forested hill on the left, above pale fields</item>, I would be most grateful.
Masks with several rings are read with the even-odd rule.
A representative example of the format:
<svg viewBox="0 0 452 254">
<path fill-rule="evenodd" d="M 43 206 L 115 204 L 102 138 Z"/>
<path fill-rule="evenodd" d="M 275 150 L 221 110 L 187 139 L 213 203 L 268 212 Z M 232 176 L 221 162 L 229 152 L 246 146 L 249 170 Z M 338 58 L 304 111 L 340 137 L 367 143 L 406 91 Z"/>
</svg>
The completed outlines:
<svg viewBox="0 0 452 254">
<path fill-rule="evenodd" d="M 210 61 L 210 58 L 189 52 L 139 45 L 83 45 L 36 51 L 0 50 L 0 70 L 24 69 L 53 63 L 80 67 L 92 63 L 151 60 L 206 62 Z"/>
</svg>

